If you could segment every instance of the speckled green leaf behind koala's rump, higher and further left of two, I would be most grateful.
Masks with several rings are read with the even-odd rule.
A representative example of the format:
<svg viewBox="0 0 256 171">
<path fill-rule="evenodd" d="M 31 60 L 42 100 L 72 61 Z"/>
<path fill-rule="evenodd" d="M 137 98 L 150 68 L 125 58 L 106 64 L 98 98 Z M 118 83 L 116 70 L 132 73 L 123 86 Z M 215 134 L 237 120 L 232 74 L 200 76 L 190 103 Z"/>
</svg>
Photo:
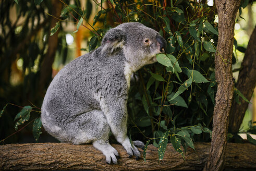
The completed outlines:
<svg viewBox="0 0 256 171">
<path fill-rule="evenodd" d="M 15 116 L 14 121 L 16 121 L 14 127 L 15 130 L 18 130 L 18 126 L 25 123 L 25 121 L 28 121 L 30 118 L 30 112 L 32 110 L 31 106 L 25 106 L 21 109 L 21 111 Z"/>
</svg>

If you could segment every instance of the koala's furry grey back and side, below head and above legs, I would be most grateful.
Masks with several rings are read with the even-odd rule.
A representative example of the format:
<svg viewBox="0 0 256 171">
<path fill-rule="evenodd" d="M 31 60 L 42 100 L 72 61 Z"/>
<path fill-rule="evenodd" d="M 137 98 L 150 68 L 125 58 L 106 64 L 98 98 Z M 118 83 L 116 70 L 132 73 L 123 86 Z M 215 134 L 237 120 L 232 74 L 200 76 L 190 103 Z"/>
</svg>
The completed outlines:
<svg viewBox="0 0 256 171">
<path fill-rule="evenodd" d="M 56 125 L 65 129 L 77 116 L 101 110 L 99 99 L 128 93 L 123 52 L 113 56 L 100 52 L 98 48 L 73 60 L 55 76 L 42 105 L 44 127 Z"/>
</svg>

